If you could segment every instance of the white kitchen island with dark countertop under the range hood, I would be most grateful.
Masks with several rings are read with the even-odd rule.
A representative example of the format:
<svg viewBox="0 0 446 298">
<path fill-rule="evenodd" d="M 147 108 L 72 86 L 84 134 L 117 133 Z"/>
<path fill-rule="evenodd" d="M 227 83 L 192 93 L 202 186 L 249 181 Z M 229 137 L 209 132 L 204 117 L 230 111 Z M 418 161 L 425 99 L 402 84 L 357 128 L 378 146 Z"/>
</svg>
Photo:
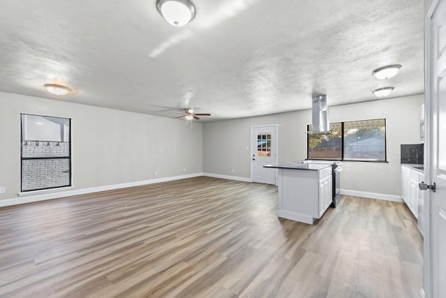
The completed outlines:
<svg viewBox="0 0 446 298">
<path fill-rule="evenodd" d="M 332 202 L 332 165 L 279 163 L 277 216 L 312 225 Z"/>
</svg>

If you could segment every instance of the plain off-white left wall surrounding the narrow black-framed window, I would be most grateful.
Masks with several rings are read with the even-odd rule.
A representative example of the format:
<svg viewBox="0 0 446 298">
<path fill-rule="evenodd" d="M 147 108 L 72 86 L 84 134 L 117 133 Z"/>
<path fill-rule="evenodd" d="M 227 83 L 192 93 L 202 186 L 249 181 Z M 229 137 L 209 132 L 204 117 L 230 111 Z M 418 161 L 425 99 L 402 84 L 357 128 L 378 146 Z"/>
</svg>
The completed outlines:
<svg viewBox="0 0 446 298">
<path fill-rule="evenodd" d="M 0 92 L 0 200 L 20 192 L 20 113 L 72 119 L 74 189 L 203 172 L 197 122 Z"/>
</svg>

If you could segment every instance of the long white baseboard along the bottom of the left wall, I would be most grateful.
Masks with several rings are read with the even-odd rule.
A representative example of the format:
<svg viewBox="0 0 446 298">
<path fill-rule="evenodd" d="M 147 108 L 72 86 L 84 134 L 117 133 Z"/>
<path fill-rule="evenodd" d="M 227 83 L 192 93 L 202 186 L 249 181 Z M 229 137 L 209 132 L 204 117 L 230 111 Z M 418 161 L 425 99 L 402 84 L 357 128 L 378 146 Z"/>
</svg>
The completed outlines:
<svg viewBox="0 0 446 298">
<path fill-rule="evenodd" d="M 39 201 L 45 201 L 45 200 L 54 200 L 54 199 L 69 197 L 72 195 L 84 195 L 86 193 L 98 193 L 99 191 L 113 191 L 114 189 L 118 189 L 118 188 L 142 186 L 142 185 L 155 184 L 155 183 L 174 181 L 174 180 L 180 180 L 180 179 L 187 179 L 187 178 L 199 177 L 199 176 L 203 176 L 203 173 L 187 174 L 187 175 L 173 176 L 173 177 L 164 177 L 164 178 L 157 178 L 157 179 L 144 180 L 144 181 L 134 181 L 134 182 L 128 182 L 128 183 L 123 183 L 123 184 L 96 186 L 96 187 L 91 187 L 91 188 L 73 189 L 70 191 L 59 191 L 56 193 L 52 192 L 52 193 L 43 193 L 43 194 L 38 194 L 38 195 L 33 195 L 33 194 L 26 195 L 26 193 L 20 193 L 19 198 L 10 198 L 10 199 L 6 199 L 6 200 L 0 200 L 0 207 L 13 206 L 13 205 L 17 205 L 17 204 L 26 204 L 26 203 L 32 203 L 32 202 L 39 202 Z"/>
</svg>

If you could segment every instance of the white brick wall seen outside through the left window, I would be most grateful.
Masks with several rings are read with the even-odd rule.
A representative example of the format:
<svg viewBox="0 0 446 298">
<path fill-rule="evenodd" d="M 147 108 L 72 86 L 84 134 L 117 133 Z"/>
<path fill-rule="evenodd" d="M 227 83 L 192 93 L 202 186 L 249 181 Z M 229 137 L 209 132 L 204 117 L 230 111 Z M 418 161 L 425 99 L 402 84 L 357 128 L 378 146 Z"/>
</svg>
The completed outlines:
<svg viewBox="0 0 446 298">
<path fill-rule="evenodd" d="M 68 142 L 25 141 L 22 146 L 22 191 L 70 185 Z"/>
</svg>

